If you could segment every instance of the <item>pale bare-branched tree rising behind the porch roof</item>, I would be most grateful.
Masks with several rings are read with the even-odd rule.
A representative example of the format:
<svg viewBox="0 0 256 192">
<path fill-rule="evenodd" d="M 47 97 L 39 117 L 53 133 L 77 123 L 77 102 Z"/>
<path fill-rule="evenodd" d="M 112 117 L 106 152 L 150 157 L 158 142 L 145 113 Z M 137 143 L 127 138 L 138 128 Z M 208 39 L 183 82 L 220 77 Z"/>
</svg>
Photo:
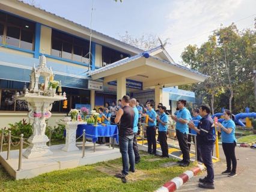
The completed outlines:
<svg viewBox="0 0 256 192">
<path fill-rule="evenodd" d="M 130 44 L 131 46 L 138 47 L 142 50 L 150 50 L 157 46 L 159 46 L 159 37 L 154 32 L 144 33 L 140 37 L 133 37 L 129 35 L 128 31 L 126 31 L 125 35 L 118 34 L 119 40 L 124 43 Z M 163 41 L 163 44 L 170 44 L 169 38 L 166 38 Z"/>
</svg>

